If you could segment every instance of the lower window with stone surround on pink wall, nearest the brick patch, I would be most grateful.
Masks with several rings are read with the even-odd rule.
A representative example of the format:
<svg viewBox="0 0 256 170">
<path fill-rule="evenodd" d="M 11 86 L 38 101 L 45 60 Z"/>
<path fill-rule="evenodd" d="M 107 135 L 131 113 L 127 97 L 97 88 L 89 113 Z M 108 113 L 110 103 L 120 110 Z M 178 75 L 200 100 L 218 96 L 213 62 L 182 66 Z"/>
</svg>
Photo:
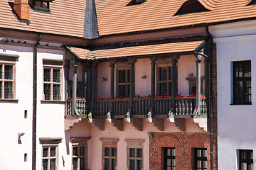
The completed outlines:
<svg viewBox="0 0 256 170">
<path fill-rule="evenodd" d="M 127 142 L 127 165 L 129 170 L 143 169 L 144 140 L 125 140 Z"/>
</svg>

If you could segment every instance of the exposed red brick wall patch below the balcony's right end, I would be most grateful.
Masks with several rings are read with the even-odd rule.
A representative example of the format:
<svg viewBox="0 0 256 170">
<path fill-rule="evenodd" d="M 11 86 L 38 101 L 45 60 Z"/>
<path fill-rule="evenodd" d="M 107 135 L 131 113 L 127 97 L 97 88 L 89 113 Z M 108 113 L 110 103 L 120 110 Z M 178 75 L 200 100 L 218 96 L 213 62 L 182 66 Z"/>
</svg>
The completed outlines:
<svg viewBox="0 0 256 170">
<path fill-rule="evenodd" d="M 207 163 L 210 169 L 210 134 L 208 132 L 154 132 L 149 140 L 149 167 L 164 169 L 164 147 L 175 147 L 176 169 L 194 169 L 193 149 L 207 148 Z"/>
</svg>

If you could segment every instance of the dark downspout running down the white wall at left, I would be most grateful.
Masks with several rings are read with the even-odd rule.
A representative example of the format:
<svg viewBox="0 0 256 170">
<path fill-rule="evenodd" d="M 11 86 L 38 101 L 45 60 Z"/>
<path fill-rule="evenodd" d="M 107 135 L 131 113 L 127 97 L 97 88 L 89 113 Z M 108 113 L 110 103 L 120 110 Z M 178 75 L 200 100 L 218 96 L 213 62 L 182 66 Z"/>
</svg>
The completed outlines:
<svg viewBox="0 0 256 170">
<path fill-rule="evenodd" d="M 33 120 L 32 120 L 32 170 L 36 169 L 36 103 L 37 103 L 37 47 L 41 40 L 41 34 L 34 45 L 33 52 Z"/>
</svg>

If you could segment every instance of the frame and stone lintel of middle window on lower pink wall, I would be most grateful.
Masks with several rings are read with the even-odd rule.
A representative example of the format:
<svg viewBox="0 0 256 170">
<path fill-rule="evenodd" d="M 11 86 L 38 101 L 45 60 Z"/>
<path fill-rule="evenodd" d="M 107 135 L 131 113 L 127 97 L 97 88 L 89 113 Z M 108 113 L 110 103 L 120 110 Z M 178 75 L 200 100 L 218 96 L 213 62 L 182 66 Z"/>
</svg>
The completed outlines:
<svg viewBox="0 0 256 170">
<path fill-rule="evenodd" d="M 103 139 L 100 138 L 100 141 L 102 141 L 102 169 L 105 167 L 105 159 L 116 159 L 116 166 L 114 167 L 115 170 L 117 170 L 117 154 L 116 156 L 111 156 L 111 148 L 116 148 L 117 149 L 117 142 L 119 141 L 118 139 Z M 105 155 L 105 148 L 109 147 L 110 148 L 110 156 Z M 111 167 L 111 162 L 110 162 L 110 169 Z"/>
</svg>

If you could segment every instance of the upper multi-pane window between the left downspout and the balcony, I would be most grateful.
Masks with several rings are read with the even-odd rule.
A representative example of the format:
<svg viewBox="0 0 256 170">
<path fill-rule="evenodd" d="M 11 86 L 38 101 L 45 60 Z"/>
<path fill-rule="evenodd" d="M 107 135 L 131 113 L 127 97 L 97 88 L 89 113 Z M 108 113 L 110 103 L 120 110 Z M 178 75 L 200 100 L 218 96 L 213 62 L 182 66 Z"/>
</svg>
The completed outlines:
<svg viewBox="0 0 256 170">
<path fill-rule="evenodd" d="M 44 100 L 59 101 L 60 98 L 60 70 L 58 68 L 43 69 Z"/>
</svg>

